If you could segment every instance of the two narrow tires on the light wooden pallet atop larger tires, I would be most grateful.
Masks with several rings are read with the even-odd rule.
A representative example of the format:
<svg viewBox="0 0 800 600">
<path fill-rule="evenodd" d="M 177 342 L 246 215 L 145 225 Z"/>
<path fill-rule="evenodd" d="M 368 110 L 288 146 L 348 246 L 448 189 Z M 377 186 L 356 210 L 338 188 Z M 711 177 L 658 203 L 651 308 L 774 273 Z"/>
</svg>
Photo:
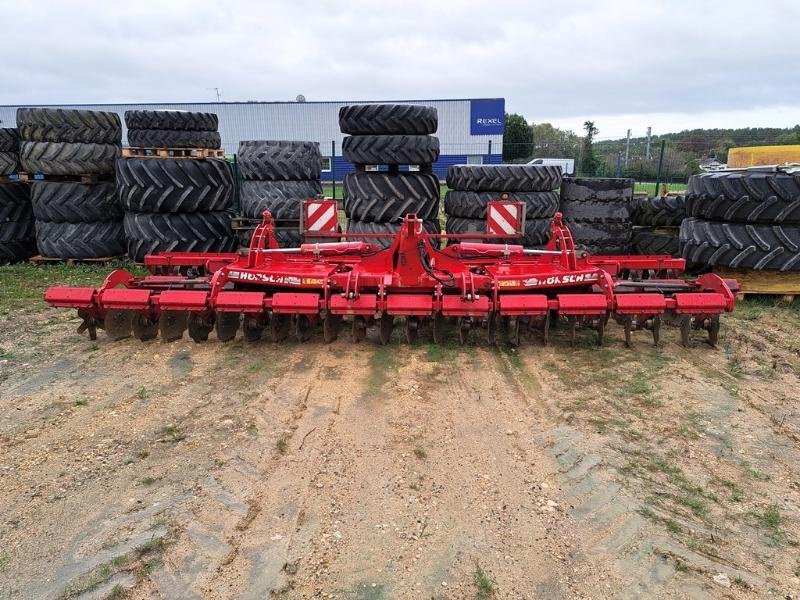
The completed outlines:
<svg viewBox="0 0 800 600">
<path fill-rule="evenodd" d="M 219 148 L 219 119 L 214 113 L 182 110 L 125 112 L 128 145 L 139 148 Z"/>
</svg>

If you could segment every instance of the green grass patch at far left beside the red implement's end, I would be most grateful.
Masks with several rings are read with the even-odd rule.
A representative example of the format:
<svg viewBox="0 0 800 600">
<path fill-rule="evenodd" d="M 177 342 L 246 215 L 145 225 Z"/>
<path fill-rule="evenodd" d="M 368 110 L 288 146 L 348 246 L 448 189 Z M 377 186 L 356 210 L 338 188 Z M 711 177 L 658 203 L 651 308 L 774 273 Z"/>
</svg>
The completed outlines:
<svg viewBox="0 0 800 600">
<path fill-rule="evenodd" d="M 144 270 L 128 261 L 113 261 L 107 265 L 34 265 L 19 263 L 0 267 L 0 314 L 9 310 L 26 308 L 41 310 L 46 307 L 42 294 L 54 285 L 97 287 L 106 275 L 117 268 L 127 269 L 134 275 Z"/>
</svg>

